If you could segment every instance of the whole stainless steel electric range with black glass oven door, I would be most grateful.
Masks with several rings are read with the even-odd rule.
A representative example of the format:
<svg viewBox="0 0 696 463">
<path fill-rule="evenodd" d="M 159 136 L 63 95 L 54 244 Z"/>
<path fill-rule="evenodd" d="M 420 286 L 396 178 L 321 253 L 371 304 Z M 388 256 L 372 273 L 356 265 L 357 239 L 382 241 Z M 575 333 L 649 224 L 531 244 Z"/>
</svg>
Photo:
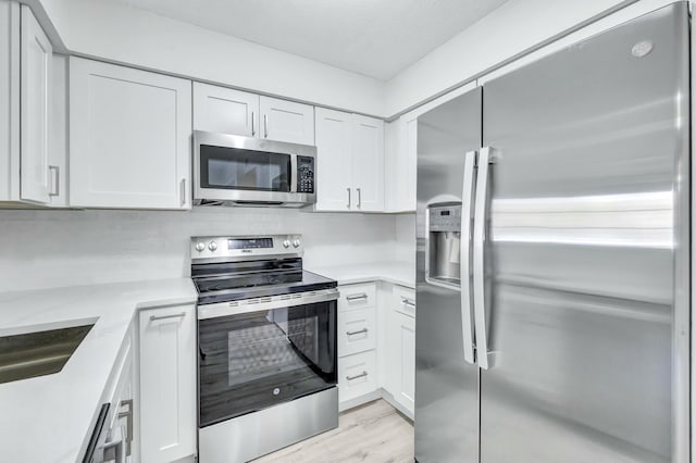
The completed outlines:
<svg viewBox="0 0 696 463">
<path fill-rule="evenodd" d="M 338 426 L 337 284 L 302 254 L 300 235 L 191 238 L 201 463 Z"/>
</svg>

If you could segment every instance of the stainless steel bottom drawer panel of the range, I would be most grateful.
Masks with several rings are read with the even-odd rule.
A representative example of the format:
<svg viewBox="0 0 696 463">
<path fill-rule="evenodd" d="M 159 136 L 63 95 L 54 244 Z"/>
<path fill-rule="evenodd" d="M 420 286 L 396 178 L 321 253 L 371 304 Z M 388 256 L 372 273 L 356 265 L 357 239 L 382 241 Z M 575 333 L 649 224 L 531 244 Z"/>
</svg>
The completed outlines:
<svg viewBox="0 0 696 463">
<path fill-rule="evenodd" d="M 332 387 L 200 428 L 199 462 L 246 462 L 337 426 L 338 389 Z"/>
</svg>

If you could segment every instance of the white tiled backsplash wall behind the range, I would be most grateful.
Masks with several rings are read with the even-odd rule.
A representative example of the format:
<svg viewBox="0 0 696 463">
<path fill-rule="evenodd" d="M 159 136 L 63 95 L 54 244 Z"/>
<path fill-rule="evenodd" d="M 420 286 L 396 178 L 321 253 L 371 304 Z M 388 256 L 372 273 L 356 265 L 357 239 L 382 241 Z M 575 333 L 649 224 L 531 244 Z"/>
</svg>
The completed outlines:
<svg viewBox="0 0 696 463">
<path fill-rule="evenodd" d="M 310 271 L 405 260 L 395 221 L 261 208 L 0 211 L 0 291 L 189 276 L 191 236 L 299 233 Z"/>
</svg>

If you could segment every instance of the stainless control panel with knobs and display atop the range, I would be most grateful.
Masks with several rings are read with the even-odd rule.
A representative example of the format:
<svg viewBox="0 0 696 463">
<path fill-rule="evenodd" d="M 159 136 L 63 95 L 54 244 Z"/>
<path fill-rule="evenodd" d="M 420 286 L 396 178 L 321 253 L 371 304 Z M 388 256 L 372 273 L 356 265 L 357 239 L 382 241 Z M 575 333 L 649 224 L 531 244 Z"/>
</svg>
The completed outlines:
<svg viewBox="0 0 696 463">
<path fill-rule="evenodd" d="M 302 235 L 203 236 L 191 238 L 191 260 L 227 258 L 247 260 L 304 253 Z"/>
</svg>

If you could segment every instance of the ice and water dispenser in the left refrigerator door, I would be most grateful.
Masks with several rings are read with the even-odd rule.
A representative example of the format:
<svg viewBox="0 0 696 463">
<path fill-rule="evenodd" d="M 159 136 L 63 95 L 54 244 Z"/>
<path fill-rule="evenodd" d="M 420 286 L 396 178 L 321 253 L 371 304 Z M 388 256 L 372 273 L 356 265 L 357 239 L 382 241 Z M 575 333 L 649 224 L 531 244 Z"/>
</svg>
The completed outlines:
<svg viewBox="0 0 696 463">
<path fill-rule="evenodd" d="M 461 203 L 430 204 L 426 217 L 425 280 L 437 286 L 459 288 Z"/>
</svg>

